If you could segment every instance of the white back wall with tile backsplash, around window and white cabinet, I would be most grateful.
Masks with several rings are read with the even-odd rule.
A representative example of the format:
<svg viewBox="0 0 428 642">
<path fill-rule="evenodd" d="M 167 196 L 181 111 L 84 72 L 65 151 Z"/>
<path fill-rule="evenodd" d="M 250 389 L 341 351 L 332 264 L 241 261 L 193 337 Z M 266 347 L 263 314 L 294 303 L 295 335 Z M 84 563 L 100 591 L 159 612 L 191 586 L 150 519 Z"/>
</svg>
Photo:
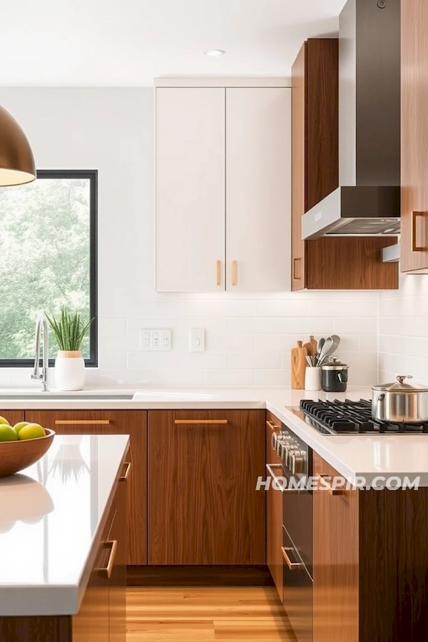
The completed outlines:
<svg viewBox="0 0 428 642">
<path fill-rule="evenodd" d="M 287 385 L 295 341 L 332 332 L 350 383 L 377 381 L 376 292 L 154 292 L 150 88 L 0 88 L 0 103 L 38 168 L 99 170 L 100 367 L 88 384 Z M 172 328 L 173 350 L 141 352 L 142 327 Z M 206 328 L 205 352 L 188 351 L 191 327 Z M 2 369 L 0 383 L 30 384 L 29 371 Z"/>
</svg>

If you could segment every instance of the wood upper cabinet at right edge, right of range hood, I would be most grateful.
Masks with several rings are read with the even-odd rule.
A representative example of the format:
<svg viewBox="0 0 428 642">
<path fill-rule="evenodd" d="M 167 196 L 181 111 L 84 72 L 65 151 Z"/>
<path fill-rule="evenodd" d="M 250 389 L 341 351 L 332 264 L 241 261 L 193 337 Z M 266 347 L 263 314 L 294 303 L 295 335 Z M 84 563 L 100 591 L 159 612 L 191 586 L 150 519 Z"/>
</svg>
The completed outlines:
<svg viewBox="0 0 428 642">
<path fill-rule="evenodd" d="M 428 3 L 401 7 L 402 272 L 428 272 Z"/>
</svg>

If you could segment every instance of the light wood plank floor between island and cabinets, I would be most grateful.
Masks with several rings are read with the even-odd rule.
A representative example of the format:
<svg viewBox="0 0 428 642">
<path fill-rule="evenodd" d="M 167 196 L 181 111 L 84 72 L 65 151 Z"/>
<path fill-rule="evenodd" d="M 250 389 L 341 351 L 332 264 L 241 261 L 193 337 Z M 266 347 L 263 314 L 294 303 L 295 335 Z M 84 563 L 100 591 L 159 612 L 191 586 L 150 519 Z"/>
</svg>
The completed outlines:
<svg viewBox="0 0 428 642">
<path fill-rule="evenodd" d="M 127 642 L 295 642 L 275 588 L 128 588 Z"/>
</svg>

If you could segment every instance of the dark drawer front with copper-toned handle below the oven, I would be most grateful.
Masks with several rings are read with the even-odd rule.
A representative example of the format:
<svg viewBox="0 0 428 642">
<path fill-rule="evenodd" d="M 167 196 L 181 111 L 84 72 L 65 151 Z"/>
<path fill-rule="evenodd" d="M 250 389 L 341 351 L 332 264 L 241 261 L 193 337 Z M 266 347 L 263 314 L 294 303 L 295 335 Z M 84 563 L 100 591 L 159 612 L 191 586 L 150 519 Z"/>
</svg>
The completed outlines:
<svg viewBox="0 0 428 642">
<path fill-rule="evenodd" d="M 283 528 L 282 541 L 282 555 L 284 556 L 282 603 L 287 611 L 297 642 L 312 642 L 312 577 L 297 554 L 295 545 L 285 527 Z"/>
</svg>

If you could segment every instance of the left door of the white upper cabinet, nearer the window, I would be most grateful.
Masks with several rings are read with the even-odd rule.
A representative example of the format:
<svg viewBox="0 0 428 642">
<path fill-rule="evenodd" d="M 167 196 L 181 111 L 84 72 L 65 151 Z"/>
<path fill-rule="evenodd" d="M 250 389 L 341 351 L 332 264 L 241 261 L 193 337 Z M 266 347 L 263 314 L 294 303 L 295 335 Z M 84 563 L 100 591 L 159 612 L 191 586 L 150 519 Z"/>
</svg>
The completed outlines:
<svg viewBox="0 0 428 642">
<path fill-rule="evenodd" d="M 156 290 L 225 289 L 225 90 L 156 89 Z"/>
</svg>

